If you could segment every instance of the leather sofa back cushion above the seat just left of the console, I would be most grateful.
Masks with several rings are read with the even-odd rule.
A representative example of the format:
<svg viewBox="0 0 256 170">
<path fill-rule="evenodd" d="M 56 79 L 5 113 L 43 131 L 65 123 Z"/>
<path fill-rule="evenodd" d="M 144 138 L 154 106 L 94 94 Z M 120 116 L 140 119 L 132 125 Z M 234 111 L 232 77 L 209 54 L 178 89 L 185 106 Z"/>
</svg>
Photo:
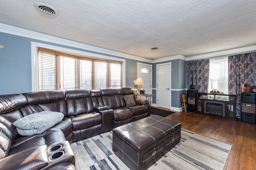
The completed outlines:
<svg viewBox="0 0 256 170">
<path fill-rule="evenodd" d="M 69 116 L 81 115 L 93 111 L 93 104 L 89 90 L 67 90 L 66 100 Z"/>
</svg>

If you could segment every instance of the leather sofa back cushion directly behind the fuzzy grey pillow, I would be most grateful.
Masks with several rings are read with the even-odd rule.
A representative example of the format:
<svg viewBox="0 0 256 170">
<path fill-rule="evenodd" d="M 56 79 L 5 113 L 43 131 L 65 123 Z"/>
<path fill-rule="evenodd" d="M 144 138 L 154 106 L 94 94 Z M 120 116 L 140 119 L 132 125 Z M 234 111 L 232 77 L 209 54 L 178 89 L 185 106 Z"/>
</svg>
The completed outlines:
<svg viewBox="0 0 256 170">
<path fill-rule="evenodd" d="M 20 111 L 23 116 L 41 111 L 57 111 L 68 117 L 66 106 L 66 95 L 64 91 L 41 91 L 24 93 L 28 100 L 28 106 L 22 107 Z"/>
</svg>

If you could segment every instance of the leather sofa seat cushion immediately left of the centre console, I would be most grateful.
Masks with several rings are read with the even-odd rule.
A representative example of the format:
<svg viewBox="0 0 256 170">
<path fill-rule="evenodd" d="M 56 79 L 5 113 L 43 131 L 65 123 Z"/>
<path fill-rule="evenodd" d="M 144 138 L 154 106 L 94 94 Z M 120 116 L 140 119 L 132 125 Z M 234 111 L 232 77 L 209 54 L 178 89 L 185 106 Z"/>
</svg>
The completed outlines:
<svg viewBox="0 0 256 170">
<path fill-rule="evenodd" d="M 100 113 L 92 112 L 77 115 L 71 118 L 73 124 L 73 131 L 86 129 L 102 123 L 102 117 Z"/>
</svg>

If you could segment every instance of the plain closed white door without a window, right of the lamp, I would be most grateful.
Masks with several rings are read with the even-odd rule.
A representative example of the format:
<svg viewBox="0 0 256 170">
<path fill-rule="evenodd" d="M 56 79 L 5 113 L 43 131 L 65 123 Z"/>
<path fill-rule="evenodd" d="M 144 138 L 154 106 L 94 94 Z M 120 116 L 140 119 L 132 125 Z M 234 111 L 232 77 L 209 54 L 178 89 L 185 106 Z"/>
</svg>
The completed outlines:
<svg viewBox="0 0 256 170">
<path fill-rule="evenodd" d="M 157 65 L 157 106 L 170 109 L 170 64 Z"/>
</svg>

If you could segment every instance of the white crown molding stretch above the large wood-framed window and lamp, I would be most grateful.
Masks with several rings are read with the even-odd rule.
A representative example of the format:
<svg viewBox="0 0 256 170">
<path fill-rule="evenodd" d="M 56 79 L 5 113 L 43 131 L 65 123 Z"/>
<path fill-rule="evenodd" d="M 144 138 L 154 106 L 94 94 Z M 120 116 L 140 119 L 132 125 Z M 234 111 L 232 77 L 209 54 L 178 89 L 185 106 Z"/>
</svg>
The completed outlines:
<svg viewBox="0 0 256 170">
<path fill-rule="evenodd" d="M 28 30 L 28 29 L 14 27 L 14 26 L 11 26 L 11 25 L 3 24 L 3 23 L 0 23 L 0 32 L 12 34 L 12 35 L 18 35 L 18 36 L 21 36 L 21 37 L 26 37 L 26 38 L 31 38 L 31 39 L 37 39 L 37 40 L 40 40 L 40 41 L 46 41 L 46 42 L 50 42 L 50 43 L 56 43 L 56 44 L 60 44 L 60 45 L 66 45 L 66 46 L 69 46 L 69 47 L 84 49 L 84 50 L 93 51 L 93 52 L 96 52 L 96 53 L 102 53 L 102 54 L 106 54 L 106 55 L 111 55 L 111 56 L 116 56 L 116 57 L 123 57 L 123 58 L 127 58 L 127 59 L 133 59 L 133 60 L 152 63 L 151 59 L 146 59 L 144 57 L 139 57 L 139 56 L 136 56 L 136 55 L 130 55 L 130 54 L 127 54 L 127 53 L 122 53 L 122 52 L 118 52 L 118 51 L 114 51 L 114 50 L 104 49 L 104 48 L 101 48 L 101 47 L 87 45 L 87 44 L 84 44 L 84 43 L 78 43 L 76 41 L 71 41 L 71 40 L 68 40 L 68 39 L 55 37 L 55 36 L 52 36 L 52 35 L 47 35 L 47 34 L 39 33 L 39 32 L 36 32 L 36 31 L 31 31 L 31 30 Z"/>
</svg>

